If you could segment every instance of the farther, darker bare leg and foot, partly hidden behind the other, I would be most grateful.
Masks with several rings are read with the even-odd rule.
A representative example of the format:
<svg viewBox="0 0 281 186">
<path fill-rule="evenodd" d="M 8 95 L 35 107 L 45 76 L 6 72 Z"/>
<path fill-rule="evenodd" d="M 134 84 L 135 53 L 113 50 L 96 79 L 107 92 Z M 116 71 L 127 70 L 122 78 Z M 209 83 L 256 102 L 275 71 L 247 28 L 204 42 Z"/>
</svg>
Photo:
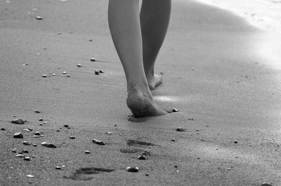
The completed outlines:
<svg viewBox="0 0 281 186">
<path fill-rule="evenodd" d="M 150 90 L 162 83 L 155 75 L 154 66 L 169 26 L 171 0 L 143 0 L 141 32 L 143 37 L 143 66 Z"/>
</svg>

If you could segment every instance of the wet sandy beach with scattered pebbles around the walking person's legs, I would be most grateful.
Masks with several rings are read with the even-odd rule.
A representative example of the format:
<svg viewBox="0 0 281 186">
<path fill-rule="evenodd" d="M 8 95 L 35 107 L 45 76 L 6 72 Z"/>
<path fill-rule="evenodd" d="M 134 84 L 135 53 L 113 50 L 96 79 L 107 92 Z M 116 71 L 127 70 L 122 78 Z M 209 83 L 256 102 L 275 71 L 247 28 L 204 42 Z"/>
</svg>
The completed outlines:
<svg viewBox="0 0 281 186">
<path fill-rule="evenodd" d="M 280 38 L 173 1 L 152 94 L 178 112 L 131 122 L 107 1 L 0 1 L 0 185 L 281 185 Z"/>
</svg>

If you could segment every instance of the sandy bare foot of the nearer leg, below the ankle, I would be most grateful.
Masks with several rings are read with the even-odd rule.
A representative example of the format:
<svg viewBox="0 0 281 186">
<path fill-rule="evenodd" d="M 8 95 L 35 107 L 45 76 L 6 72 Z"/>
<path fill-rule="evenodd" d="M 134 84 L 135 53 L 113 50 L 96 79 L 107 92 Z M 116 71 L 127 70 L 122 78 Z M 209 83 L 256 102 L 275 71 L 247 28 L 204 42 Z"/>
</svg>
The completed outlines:
<svg viewBox="0 0 281 186">
<path fill-rule="evenodd" d="M 134 117 L 166 115 L 167 112 L 159 108 L 152 98 L 150 90 L 142 87 L 131 87 L 128 90 L 127 106 Z"/>
</svg>

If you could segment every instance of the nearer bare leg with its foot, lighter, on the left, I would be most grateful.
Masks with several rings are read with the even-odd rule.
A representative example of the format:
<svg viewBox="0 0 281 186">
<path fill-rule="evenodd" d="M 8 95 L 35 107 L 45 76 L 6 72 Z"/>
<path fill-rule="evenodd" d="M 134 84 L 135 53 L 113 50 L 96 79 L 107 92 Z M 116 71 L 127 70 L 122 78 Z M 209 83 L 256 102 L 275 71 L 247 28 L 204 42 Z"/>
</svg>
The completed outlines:
<svg viewBox="0 0 281 186">
<path fill-rule="evenodd" d="M 108 22 L 127 80 L 127 106 L 135 117 L 164 115 L 149 90 L 143 69 L 138 0 L 110 0 Z"/>
</svg>

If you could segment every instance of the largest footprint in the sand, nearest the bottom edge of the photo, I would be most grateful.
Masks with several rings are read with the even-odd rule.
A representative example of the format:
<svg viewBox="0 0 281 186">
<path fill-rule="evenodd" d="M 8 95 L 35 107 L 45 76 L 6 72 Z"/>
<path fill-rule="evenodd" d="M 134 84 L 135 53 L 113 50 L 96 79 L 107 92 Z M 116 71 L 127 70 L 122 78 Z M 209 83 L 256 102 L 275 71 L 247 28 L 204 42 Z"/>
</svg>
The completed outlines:
<svg viewBox="0 0 281 186">
<path fill-rule="evenodd" d="M 72 180 L 91 180 L 93 179 L 93 174 L 100 173 L 110 173 L 115 171 L 114 169 L 103 169 L 103 168 L 95 168 L 95 167 L 86 167 L 77 169 L 71 176 L 64 178 L 72 179 Z"/>
</svg>

